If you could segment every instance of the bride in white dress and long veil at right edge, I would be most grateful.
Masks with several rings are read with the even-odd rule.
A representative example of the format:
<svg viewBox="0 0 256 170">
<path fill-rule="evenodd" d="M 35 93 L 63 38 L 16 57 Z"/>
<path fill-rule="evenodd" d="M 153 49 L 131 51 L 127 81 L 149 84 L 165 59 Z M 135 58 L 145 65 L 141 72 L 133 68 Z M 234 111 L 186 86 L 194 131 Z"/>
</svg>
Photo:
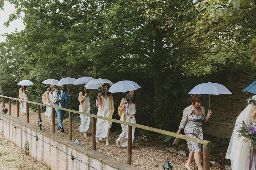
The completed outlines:
<svg viewBox="0 0 256 170">
<path fill-rule="evenodd" d="M 256 95 L 252 97 L 256 100 Z M 238 130 L 241 127 L 241 122 L 244 120 L 248 122 L 255 120 L 256 117 L 256 105 L 248 104 L 247 107 L 239 114 L 235 122 L 235 128 L 233 130 L 229 147 L 227 148 L 226 159 L 231 160 L 232 170 L 251 170 L 255 169 L 255 159 L 253 161 L 253 166 L 249 169 L 250 161 L 250 142 L 244 137 L 238 137 Z"/>
</svg>

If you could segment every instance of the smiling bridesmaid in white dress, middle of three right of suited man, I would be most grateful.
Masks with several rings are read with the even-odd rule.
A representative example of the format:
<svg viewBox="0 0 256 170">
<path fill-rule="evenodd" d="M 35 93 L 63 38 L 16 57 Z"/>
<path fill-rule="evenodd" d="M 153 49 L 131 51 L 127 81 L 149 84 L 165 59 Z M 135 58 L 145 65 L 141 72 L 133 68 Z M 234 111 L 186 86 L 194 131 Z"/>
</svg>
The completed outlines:
<svg viewBox="0 0 256 170">
<path fill-rule="evenodd" d="M 98 99 L 96 100 L 96 106 L 98 106 L 98 116 L 104 116 L 112 118 L 114 113 L 114 101 L 112 94 L 108 92 L 109 83 L 102 84 L 104 88 L 104 93 L 98 94 Z M 97 119 L 96 123 L 96 143 L 99 143 L 98 139 L 106 138 L 106 145 L 109 146 L 109 128 L 112 122 L 102 119 Z"/>
</svg>

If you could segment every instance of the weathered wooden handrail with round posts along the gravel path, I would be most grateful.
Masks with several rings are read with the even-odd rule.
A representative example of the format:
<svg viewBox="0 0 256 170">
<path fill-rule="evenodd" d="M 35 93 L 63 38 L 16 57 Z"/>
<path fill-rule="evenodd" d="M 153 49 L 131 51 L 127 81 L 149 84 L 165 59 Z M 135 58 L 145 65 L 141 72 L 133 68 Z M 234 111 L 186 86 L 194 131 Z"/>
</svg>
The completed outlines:
<svg viewBox="0 0 256 170">
<path fill-rule="evenodd" d="M 174 132 L 170 132 L 170 131 L 166 131 L 166 130 L 162 130 L 162 129 L 152 128 L 152 127 L 149 127 L 149 126 L 134 124 L 134 123 L 125 122 L 125 121 L 112 119 L 112 118 L 107 118 L 107 117 L 102 117 L 102 116 L 98 116 L 98 115 L 95 115 L 95 114 L 83 113 L 83 112 L 74 111 L 74 110 L 71 110 L 71 109 L 56 107 L 56 106 L 42 104 L 42 103 L 36 103 L 36 102 L 33 102 L 33 101 L 26 101 L 26 100 L 21 100 L 21 99 L 17 99 L 17 98 L 13 98 L 13 97 L 2 96 L 2 95 L 0 95 L 0 97 L 3 97 L 3 106 L 5 106 L 5 98 L 9 99 L 9 110 L 10 111 L 11 111 L 11 100 L 16 100 L 17 117 L 19 117 L 19 101 L 26 102 L 27 103 L 26 104 L 26 112 L 27 112 L 26 119 L 27 119 L 27 122 L 29 122 L 29 105 L 28 105 L 28 103 L 38 105 L 38 119 L 41 117 L 40 106 L 51 107 L 52 108 L 52 124 L 53 124 L 52 125 L 52 132 L 53 133 L 55 133 L 55 110 L 54 110 L 54 108 L 58 108 L 58 109 L 69 112 L 69 139 L 71 141 L 72 141 L 72 138 L 73 138 L 72 137 L 72 133 L 73 133 L 73 131 L 72 131 L 72 113 L 83 114 L 83 115 L 91 117 L 91 131 L 92 131 L 91 132 L 91 141 L 92 141 L 92 149 L 93 150 L 96 150 L 95 118 L 115 122 L 115 123 L 118 123 L 118 124 L 128 125 L 127 163 L 130 164 L 130 165 L 131 165 L 131 154 L 132 154 L 132 127 L 133 126 L 136 127 L 136 128 L 141 128 L 141 129 L 145 129 L 145 130 L 149 130 L 149 131 L 153 131 L 153 132 L 157 132 L 157 133 L 170 135 L 170 136 L 173 136 L 173 137 L 178 137 L 178 138 L 181 138 L 181 139 L 201 143 L 203 145 L 203 169 L 204 170 L 210 170 L 210 145 L 211 145 L 210 141 L 206 141 L 206 140 L 198 139 L 198 138 L 193 138 L 193 137 L 189 137 L 189 136 L 186 136 L 186 135 L 182 135 L 182 134 L 178 134 L 178 133 L 174 133 Z M 9 111 L 9 114 L 11 115 L 10 111 Z"/>
</svg>

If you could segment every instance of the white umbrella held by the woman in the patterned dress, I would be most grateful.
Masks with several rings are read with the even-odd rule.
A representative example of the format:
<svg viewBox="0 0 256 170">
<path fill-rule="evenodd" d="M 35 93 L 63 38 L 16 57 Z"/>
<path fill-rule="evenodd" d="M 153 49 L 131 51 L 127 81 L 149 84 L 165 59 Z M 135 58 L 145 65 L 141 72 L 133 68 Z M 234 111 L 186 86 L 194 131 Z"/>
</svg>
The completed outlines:
<svg viewBox="0 0 256 170">
<path fill-rule="evenodd" d="M 209 108 L 210 108 L 210 95 L 232 94 L 225 86 L 218 83 L 202 83 L 198 84 L 187 94 L 204 94 L 209 95 Z"/>
</svg>

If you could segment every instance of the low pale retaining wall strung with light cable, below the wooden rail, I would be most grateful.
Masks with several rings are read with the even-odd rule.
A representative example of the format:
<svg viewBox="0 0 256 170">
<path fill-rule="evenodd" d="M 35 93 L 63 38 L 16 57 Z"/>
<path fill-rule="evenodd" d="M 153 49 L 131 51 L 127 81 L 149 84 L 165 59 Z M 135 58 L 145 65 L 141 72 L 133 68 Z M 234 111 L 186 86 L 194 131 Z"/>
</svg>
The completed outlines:
<svg viewBox="0 0 256 170">
<path fill-rule="evenodd" d="M 8 114 L 1 114 L 0 118 L 0 133 L 20 148 L 28 141 L 29 154 L 49 169 L 139 170 Z"/>
</svg>

